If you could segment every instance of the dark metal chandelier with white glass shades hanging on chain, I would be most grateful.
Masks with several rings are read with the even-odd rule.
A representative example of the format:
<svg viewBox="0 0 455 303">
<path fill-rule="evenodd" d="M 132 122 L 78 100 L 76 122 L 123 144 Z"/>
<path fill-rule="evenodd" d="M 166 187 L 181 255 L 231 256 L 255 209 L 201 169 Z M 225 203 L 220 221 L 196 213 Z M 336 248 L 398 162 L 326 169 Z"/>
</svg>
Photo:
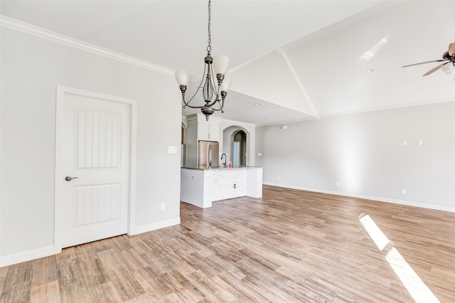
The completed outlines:
<svg viewBox="0 0 455 303">
<path fill-rule="evenodd" d="M 198 89 L 202 88 L 202 95 L 204 98 L 204 105 L 193 106 L 190 105 L 191 100 L 196 96 L 198 90 L 194 92 L 193 97 L 186 101 L 185 93 L 186 87 L 190 82 L 190 74 L 187 70 L 176 70 L 175 76 L 177 83 L 182 93 L 183 108 L 200 108 L 200 111 L 205 115 L 205 120 L 208 121 L 208 117 L 215 111 L 224 112 L 223 107 L 225 105 L 225 98 L 228 95 L 230 87 L 230 80 L 225 78 L 225 74 L 228 70 L 229 58 L 225 55 L 218 55 L 212 58 L 210 52 L 212 51 L 211 36 L 210 36 L 210 11 L 211 11 L 211 0 L 208 1 L 208 46 L 207 55 L 204 58 L 204 73 L 200 80 Z M 216 78 L 216 79 L 215 79 Z M 204 84 L 203 84 L 204 83 Z M 217 105 L 218 103 L 218 105 Z"/>
</svg>

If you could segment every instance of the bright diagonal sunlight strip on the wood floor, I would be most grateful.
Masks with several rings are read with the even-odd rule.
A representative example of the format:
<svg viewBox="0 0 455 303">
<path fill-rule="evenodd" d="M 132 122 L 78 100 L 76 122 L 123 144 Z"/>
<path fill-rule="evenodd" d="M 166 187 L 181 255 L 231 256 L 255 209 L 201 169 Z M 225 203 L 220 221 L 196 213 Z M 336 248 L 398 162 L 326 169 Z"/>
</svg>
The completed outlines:
<svg viewBox="0 0 455 303">
<path fill-rule="evenodd" d="M 419 275 L 417 275 L 412 267 L 406 262 L 405 258 L 402 257 L 387 236 L 382 233 L 382 230 L 378 227 L 373 218 L 369 215 L 361 214 L 359 220 L 379 250 L 387 252 L 385 260 L 389 263 L 390 267 L 392 267 L 395 275 L 400 279 L 402 285 L 407 289 L 407 292 L 409 292 L 412 299 L 414 299 L 415 302 L 439 303 L 437 297 L 434 296 Z"/>
</svg>

